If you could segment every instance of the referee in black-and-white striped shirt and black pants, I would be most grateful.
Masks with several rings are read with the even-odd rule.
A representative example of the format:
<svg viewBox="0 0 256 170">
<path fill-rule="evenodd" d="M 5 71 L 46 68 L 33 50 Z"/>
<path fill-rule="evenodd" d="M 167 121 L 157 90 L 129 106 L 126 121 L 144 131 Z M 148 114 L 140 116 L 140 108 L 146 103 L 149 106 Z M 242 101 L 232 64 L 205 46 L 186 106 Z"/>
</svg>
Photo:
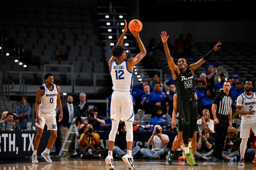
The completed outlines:
<svg viewBox="0 0 256 170">
<path fill-rule="evenodd" d="M 228 128 L 232 127 L 232 96 L 229 94 L 231 84 L 225 81 L 224 92 L 217 94 L 212 104 L 212 115 L 214 118 L 214 130 L 216 134 L 212 160 L 222 160 L 222 151 Z"/>
</svg>

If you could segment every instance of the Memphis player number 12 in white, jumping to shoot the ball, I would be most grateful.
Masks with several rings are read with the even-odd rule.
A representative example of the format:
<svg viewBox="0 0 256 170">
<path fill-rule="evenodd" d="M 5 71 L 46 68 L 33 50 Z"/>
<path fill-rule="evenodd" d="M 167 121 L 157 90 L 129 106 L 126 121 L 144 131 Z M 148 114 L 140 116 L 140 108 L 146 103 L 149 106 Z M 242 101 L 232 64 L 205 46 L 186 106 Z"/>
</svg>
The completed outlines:
<svg viewBox="0 0 256 170">
<path fill-rule="evenodd" d="M 127 133 L 127 154 L 122 157 L 123 161 L 127 164 L 127 167 L 134 170 L 132 160 L 132 143 L 133 132 L 132 123 L 134 121 L 134 110 L 132 103 L 132 85 L 133 85 L 133 66 L 142 60 L 146 55 L 146 49 L 140 40 L 138 31 L 131 31 L 132 35 L 136 38 L 136 41 L 140 47 L 140 53 L 127 60 L 126 51 L 122 46 L 124 35 L 127 31 L 127 23 L 124 20 L 125 27 L 124 32 L 116 43 L 116 46 L 112 48 L 112 57 L 110 58 L 109 72 L 111 74 L 113 82 L 112 100 L 110 104 L 110 118 L 112 121 L 112 128 L 109 133 L 109 146 L 108 156 L 105 159 L 106 169 L 114 170 L 112 151 L 115 144 L 116 132 L 118 129 L 119 121 L 124 121 Z"/>
</svg>

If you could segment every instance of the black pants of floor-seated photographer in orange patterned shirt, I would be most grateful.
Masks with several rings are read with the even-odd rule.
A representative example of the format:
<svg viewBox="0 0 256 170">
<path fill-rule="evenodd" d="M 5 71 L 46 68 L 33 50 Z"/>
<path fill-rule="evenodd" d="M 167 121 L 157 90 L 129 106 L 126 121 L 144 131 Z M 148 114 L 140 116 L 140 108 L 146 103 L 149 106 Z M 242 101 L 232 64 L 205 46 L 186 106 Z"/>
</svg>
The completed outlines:
<svg viewBox="0 0 256 170">
<path fill-rule="evenodd" d="M 82 147 L 77 146 L 76 147 L 76 152 L 79 154 L 83 154 L 82 159 L 95 159 L 94 155 L 101 155 L 101 158 L 106 158 L 108 156 L 108 150 L 105 148 L 100 148 L 96 151 L 92 151 L 92 154 L 89 152 L 85 151 Z"/>
</svg>

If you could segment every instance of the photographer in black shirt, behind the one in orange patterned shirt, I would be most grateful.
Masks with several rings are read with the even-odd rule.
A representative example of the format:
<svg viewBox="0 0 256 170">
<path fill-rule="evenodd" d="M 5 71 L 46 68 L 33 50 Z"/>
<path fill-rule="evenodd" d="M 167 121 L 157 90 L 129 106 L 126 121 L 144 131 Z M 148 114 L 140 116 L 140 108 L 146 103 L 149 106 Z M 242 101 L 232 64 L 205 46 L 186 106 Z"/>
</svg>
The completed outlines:
<svg viewBox="0 0 256 170">
<path fill-rule="evenodd" d="M 79 127 L 83 129 L 86 124 L 92 124 L 94 130 L 100 130 L 100 124 L 105 124 L 104 117 L 98 115 L 98 110 L 96 108 L 87 110 L 87 119 Z"/>
</svg>

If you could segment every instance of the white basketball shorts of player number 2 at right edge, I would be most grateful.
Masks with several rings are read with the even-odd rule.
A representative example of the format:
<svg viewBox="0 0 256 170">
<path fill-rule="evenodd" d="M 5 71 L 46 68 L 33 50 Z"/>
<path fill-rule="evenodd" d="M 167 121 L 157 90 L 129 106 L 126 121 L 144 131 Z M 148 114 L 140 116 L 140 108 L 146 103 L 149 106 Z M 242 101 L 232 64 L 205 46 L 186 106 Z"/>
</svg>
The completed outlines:
<svg viewBox="0 0 256 170">
<path fill-rule="evenodd" d="M 252 117 L 243 117 L 241 121 L 241 131 L 240 138 L 248 138 L 250 137 L 250 130 L 256 133 L 256 116 Z"/>
</svg>

